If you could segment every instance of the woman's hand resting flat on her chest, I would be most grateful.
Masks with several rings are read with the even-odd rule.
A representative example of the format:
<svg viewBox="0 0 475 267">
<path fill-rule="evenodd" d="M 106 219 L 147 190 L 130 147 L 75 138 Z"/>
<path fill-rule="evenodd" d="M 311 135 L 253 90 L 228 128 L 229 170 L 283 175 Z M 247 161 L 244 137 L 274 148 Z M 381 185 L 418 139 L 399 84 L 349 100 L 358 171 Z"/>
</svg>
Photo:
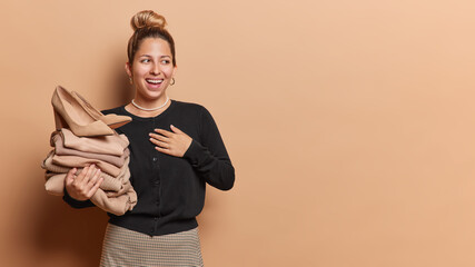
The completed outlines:
<svg viewBox="0 0 475 267">
<path fill-rule="evenodd" d="M 172 125 L 170 128 L 174 132 L 155 129 L 157 134 L 150 134 L 150 141 L 157 146 L 155 149 L 158 151 L 181 158 L 191 145 L 192 138 Z"/>
</svg>

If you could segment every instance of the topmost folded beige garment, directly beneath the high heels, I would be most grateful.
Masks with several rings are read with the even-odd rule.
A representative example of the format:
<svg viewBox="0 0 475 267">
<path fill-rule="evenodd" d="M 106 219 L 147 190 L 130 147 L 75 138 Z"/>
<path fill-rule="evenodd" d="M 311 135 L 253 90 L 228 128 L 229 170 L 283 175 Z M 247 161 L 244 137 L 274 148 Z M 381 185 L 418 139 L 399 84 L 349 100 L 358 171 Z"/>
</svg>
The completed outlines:
<svg viewBox="0 0 475 267">
<path fill-rule="evenodd" d="M 125 135 L 117 132 L 111 136 L 78 137 L 67 128 L 61 128 L 63 145 L 67 148 L 83 152 L 106 154 L 122 156 L 123 150 L 129 146 L 129 139 Z M 51 145 L 53 146 L 53 145 Z"/>
</svg>

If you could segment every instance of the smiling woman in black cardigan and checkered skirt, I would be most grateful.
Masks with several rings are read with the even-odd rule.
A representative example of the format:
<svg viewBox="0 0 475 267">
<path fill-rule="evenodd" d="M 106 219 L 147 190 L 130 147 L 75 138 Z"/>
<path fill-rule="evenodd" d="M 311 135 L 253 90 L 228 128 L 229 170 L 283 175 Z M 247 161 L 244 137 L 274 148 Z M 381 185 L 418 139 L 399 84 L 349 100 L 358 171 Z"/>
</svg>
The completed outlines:
<svg viewBox="0 0 475 267">
<path fill-rule="evenodd" d="M 101 266 L 202 266 L 196 216 L 206 184 L 232 188 L 235 169 L 209 111 L 167 97 L 177 69 L 175 43 L 164 17 L 151 10 L 131 19 L 126 71 L 135 98 L 103 113 L 129 116 L 117 128 L 130 141 L 130 181 L 138 202 L 123 216 L 109 214 Z M 67 175 L 65 201 L 91 207 L 101 184 L 95 166 Z"/>
</svg>

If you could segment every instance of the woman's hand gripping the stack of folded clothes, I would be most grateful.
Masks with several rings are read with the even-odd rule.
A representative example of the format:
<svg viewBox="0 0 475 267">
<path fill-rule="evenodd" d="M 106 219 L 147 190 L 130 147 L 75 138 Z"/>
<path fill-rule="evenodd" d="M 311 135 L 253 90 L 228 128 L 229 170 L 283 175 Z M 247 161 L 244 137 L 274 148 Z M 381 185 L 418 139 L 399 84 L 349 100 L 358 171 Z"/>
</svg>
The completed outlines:
<svg viewBox="0 0 475 267">
<path fill-rule="evenodd" d="M 77 168 L 72 168 L 67 174 L 65 179 L 66 190 L 76 200 L 87 200 L 96 194 L 102 184 L 101 171 L 95 165 L 85 167 L 78 176 L 75 175 L 76 171 Z"/>
</svg>

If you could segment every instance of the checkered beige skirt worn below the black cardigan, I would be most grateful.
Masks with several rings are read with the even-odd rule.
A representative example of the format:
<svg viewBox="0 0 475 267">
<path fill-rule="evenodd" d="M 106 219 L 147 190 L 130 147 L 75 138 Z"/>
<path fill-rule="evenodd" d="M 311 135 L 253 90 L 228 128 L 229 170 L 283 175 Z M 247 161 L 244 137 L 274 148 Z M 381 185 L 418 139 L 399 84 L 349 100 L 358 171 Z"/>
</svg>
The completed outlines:
<svg viewBox="0 0 475 267">
<path fill-rule="evenodd" d="M 150 237 L 108 224 L 100 266 L 204 266 L 198 228 Z"/>
</svg>

